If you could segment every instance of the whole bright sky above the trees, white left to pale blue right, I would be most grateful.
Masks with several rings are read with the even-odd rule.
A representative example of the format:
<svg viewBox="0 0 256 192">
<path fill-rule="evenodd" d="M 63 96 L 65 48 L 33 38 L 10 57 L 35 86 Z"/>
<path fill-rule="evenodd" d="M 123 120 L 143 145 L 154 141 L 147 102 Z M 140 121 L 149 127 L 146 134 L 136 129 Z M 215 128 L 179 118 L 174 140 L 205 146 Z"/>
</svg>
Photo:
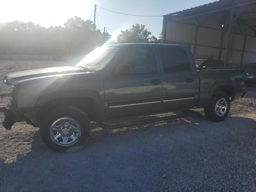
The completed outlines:
<svg viewBox="0 0 256 192">
<path fill-rule="evenodd" d="M 215 0 L 1 0 L 0 22 L 14 20 L 34 22 L 46 28 L 63 26 L 68 18 L 78 16 L 93 20 L 94 4 L 103 8 L 139 15 L 164 15 L 200 6 Z M 130 29 L 133 24 L 144 24 L 152 35 L 162 32 L 162 17 L 127 16 L 97 8 L 97 28 L 104 26 L 112 36 L 120 30 Z"/>
</svg>

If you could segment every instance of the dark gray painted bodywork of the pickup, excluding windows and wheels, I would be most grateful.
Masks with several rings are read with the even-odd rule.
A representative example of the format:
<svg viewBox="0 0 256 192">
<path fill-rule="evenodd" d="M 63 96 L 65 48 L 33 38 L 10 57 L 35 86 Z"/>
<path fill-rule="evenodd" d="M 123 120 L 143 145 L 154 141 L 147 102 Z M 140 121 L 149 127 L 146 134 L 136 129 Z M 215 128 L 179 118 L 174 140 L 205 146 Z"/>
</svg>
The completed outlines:
<svg viewBox="0 0 256 192">
<path fill-rule="evenodd" d="M 28 70 L 7 74 L 6 84 L 18 87 L 17 106 L 13 110 L 36 110 L 53 99 L 81 97 L 96 102 L 100 120 L 138 116 L 207 106 L 214 91 L 223 85 L 234 88 L 234 98 L 244 92 L 244 70 L 198 71 L 190 50 L 185 46 L 170 44 L 114 44 L 122 48 L 151 47 L 154 50 L 157 72 L 152 74 L 116 74 L 116 56 L 99 72 L 86 72 L 80 68 L 64 67 Z M 191 72 L 164 74 L 160 47 L 184 49 L 190 60 Z M 117 53 L 118 54 L 118 53 Z M 192 78 L 193 82 L 186 82 Z M 152 80 L 160 80 L 153 85 Z M 185 100 L 184 100 L 185 98 Z M 189 98 L 189 99 L 186 99 Z M 163 102 L 172 100 L 170 102 Z"/>
</svg>

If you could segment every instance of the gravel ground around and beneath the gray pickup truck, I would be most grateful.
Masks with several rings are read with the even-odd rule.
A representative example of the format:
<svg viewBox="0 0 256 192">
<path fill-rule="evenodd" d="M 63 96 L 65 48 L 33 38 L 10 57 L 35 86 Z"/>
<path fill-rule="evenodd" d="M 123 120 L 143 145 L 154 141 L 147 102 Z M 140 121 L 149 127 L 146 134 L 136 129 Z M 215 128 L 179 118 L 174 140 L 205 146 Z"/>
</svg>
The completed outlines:
<svg viewBox="0 0 256 192">
<path fill-rule="evenodd" d="M 14 71 L 66 64 L 22 63 L 0 61 Z M 7 72 L 1 68 L 1 77 Z M 223 122 L 197 109 L 186 118 L 117 130 L 94 124 L 88 144 L 68 154 L 46 148 L 38 128 L 0 126 L 0 192 L 256 191 L 256 88 L 247 90 Z M 0 84 L 1 91 L 8 88 Z M 0 96 L 0 106 L 9 100 Z"/>
</svg>

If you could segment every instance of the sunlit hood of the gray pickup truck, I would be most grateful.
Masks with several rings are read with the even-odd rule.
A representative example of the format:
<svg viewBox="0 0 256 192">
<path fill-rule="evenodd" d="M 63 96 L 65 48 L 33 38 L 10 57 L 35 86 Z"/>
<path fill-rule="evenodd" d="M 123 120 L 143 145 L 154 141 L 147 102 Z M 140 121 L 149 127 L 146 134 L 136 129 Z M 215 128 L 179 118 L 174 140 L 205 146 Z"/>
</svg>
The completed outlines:
<svg viewBox="0 0 256 192">
<path fill-rule="evenodd" d="M 86 70 L 78 67 L 72 67 L 72 66 L 26 70 L 26 71 L 6 74 L 4 76 L 4 83 L 7 85 L 10 85 L 10 84 L 13 84 L 14 82 L 31 79 L 31 78 L 39 78 L 44 76 L 79 73 L 79 72 L 86 72 Z"/>
</svg>

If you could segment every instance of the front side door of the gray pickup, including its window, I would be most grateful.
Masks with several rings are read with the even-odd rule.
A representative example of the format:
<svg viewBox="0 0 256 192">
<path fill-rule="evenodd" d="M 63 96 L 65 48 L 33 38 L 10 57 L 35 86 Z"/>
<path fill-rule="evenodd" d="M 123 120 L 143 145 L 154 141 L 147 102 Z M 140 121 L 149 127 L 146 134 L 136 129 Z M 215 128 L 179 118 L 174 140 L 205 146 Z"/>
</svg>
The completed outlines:
<svg viewBox="0 0 256 192">
<path fill-rule="evenodd" d="M 123 48 L 113 73 L 104 77 L 106 119 L 160 112 L 160 77 L 153 48 Z"/>
</svg>

